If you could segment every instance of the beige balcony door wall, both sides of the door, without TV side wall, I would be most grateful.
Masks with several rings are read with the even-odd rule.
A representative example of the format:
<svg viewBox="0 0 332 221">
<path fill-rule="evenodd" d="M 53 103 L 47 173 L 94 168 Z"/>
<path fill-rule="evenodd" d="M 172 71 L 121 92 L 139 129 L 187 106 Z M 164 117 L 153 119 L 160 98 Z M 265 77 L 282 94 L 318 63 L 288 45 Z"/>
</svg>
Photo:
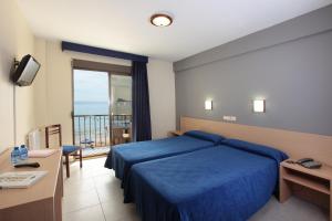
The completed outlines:
<svg viewBox="0 0 332 221">
<path fill-rule="evenodd" d="M 38 39 L 37 57 L 44 59 L 44 70 L 35 81 L 37 123 L 61 124 L 64 144 L 72 143 L 72 59 L 131 65 L 129 61 L 73 52 L 62 52 L 60 42 Z M 148 63 L 153 137 L 166 137 L 175 128 L 175 85 L 173 64 L 151 60 Z"/>
</svg>

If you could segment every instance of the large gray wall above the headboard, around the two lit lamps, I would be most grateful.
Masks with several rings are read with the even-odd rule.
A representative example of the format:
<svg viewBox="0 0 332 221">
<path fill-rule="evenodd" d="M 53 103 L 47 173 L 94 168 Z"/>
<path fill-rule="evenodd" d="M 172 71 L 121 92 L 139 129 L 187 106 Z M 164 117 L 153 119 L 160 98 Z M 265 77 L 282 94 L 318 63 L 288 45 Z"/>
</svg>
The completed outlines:
<svg viewBox="0 0 332 221">
<path fill-rule="evenodd" d="M 322 10 L 321 21 L 332 24 L 326 9 L 332 7 Z M 314 13 L 318 17 L 319 11 Z M 176 63 L 175 69 L 183 70 L 176 72 L 177 117 L 221 120 L 222 115 L 234 115 L 238 124 L 332 136 L 332 31 L 315 31 L 319 33 L 305 38 L 299 33 L 298 40 L 217 62 L 208 61 L 218 55 L 205 52 Z M 278 29 L 281 36 L 280 32 L 282 29 Z M 272 36 L 260 33 L 259 38 Z M 231 51 L 232 45 L 228 48 Z M 259 96 L 267 99 L 264 114 L 251 110 L 251 101 Z M 204 109 L 206 98 L 212 98 L 214 110 Z"/>
</svg>

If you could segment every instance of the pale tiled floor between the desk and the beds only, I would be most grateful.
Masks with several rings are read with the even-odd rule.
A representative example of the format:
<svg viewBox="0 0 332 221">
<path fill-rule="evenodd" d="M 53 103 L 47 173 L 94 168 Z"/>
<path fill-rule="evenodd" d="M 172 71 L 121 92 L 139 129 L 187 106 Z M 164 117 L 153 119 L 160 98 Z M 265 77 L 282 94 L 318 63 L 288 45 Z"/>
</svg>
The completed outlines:
<svg viewBox="0 0 332 221">
<path fill-rule="evenodd" d="M 139 221 L 135 204 L 123 203 L 120 181 L 104 162 L 84 160 L 82 169 L 71 165 L 71 177 L 64 180 L 64 221 Z"/>
</svg>

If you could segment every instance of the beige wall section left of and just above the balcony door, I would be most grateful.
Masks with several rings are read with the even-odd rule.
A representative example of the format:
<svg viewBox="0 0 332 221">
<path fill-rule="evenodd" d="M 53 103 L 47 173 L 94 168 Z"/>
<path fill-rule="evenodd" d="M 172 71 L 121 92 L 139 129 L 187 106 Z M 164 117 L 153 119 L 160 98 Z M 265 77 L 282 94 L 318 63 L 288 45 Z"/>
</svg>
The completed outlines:
<svg viewBox="0 0 332 221">
<path fill-rule="evenodd" d="M 63 144 L 72 144 L 72 65 L 73 59 L 131 65 L 128 61 L 61 51 L 59 41 L 38 39 L 37 57 L 44 57 L 44 71 L 38 73 L 35 104 L 38 126 L 61 124 Z"/>
</svg>

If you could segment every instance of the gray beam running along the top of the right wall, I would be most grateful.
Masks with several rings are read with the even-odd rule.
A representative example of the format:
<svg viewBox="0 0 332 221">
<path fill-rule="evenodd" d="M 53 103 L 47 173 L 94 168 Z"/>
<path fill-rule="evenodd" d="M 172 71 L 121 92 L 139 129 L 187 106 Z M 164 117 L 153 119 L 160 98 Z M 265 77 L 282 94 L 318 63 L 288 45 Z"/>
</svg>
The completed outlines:
<svg viewBox="0 0 332 221">
<path fill-rule="evenodd" d="M 174 70 L 175 72 L 180 72 L 238 54 L 329 31 L 332 29 L 331 21 L 332 6 L 329 6 L 178 61 L 174 63 Z"/>
</svg>

